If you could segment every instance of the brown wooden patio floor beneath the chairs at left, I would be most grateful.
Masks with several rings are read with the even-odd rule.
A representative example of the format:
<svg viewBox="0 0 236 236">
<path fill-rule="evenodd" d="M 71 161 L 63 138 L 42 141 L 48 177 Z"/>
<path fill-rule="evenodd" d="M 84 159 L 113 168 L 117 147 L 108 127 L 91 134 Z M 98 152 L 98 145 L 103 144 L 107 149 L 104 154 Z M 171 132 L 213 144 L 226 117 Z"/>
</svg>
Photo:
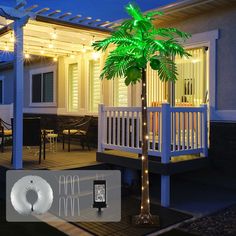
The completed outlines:
<svg viewBox="0 0 236 236">
<path fill-rule="evenodd" d="M 67 147 L 66 147 L 67 148 Z M 27 148 L 23 150 L 23 169 L 47 169 L 47 170 L 68 170 L 85 167 L 98 166 L 96 161 L 96 150 L 82 150 L 79 145 L 72 145 L 71 152 L 67 149 L 62 150 L 62 145 L 59 143 L 57 152 L 51 152 L 46 148 L 46 159 L 41 164 L 38 163 L 38 148 Z M 6 147 L 4 153 L 0 153 L 0 166 L 6 169 L 11 169 L 11 147 Z"/>
</svg>

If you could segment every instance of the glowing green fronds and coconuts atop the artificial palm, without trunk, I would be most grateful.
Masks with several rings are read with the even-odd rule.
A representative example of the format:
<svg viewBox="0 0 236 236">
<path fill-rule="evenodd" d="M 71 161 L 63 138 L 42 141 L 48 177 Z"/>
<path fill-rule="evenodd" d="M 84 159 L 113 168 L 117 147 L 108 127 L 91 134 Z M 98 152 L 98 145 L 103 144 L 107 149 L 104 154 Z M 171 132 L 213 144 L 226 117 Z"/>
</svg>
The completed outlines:
<svg viewBox="0 0 236 236">
<path fill-rule="evenodd" d="M 176 80 L 177 69 L 171 57 L 176 54 L 188 56 L 176 37 L 186 39 L 189 34 L 175 28 L 157 29 L 152 21 L 162 15 L 161 12 L 143 15 L 131 4 L 126 10 L 132 19 L 124 21 L 110 37 L 93 44 L 95 49 L 103 51 L 110 44 L 117 45 L 106 60 L 101 78 L 125 77 L 126 85 L 134 84 L 141 79 L 141 69 L 150 62 L 151 68 L 158 70 L 161 80 Z"/>
</svg>

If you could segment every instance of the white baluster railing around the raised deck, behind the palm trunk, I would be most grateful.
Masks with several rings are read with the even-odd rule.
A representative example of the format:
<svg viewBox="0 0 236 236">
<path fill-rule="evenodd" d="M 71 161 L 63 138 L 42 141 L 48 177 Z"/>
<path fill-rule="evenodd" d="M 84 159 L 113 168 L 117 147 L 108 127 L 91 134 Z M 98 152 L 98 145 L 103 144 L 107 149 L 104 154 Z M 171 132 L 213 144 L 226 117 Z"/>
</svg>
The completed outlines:
<svg viewBox="0 0 236 236">
<path fill-rule="evenodd" d="M 201 107 L 149 107 L 148 154 L 168 163 L 171 156 L 207 156 L 207 105 Z M 141 107 L 99 106 L 98 151 L 141 153 Z"/>
</svg>

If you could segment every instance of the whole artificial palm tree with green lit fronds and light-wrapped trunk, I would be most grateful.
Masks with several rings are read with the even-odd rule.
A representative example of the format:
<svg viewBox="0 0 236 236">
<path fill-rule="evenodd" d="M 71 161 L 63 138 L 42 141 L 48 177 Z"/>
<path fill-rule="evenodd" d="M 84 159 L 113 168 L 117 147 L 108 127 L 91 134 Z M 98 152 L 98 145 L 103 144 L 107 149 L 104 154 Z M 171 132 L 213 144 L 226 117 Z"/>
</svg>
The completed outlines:
<svg viewBox="0 0 236 236">
<path fill-rule="evenodd" d="M 172 59 L 176 54 L 188 56 L 179 39 L 186 39 L 189 34 L 175 28 L 156 28 L 152 21 L 161 16 L 161 12 L 142 14 L 132 4 L 126 6 L 126 11 L 131 19 L 125 20 L 108 38 L 96 41 L 93 47 L 105 51 L 109 45 L 116 45 L 106 59 L 101 79 L 123 77 L 127 86 L 142 83 L 142 195 L 141 212 L 135 223 L 153 225 L 158 218 L 150 214 L 146 69 L 150 64 L 153 70 L 158 71 L 160 80 L 175 81 L 177 68 Z"/>
</svg>

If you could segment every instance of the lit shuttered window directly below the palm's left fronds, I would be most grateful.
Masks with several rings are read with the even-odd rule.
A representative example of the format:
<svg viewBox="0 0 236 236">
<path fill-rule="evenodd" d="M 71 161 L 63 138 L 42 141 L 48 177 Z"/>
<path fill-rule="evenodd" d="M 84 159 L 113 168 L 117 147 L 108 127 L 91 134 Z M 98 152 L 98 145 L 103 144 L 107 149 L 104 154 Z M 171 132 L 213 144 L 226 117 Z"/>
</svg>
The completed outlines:
<svg viewBox="0 0 236 236">
<path fill-rule="evenodd" d="M 116 107 L 128 106 L 128 86 L 125 85 L 124 78 L 115 78 L 113 84 L 113 104 Z"/>
</svg>

